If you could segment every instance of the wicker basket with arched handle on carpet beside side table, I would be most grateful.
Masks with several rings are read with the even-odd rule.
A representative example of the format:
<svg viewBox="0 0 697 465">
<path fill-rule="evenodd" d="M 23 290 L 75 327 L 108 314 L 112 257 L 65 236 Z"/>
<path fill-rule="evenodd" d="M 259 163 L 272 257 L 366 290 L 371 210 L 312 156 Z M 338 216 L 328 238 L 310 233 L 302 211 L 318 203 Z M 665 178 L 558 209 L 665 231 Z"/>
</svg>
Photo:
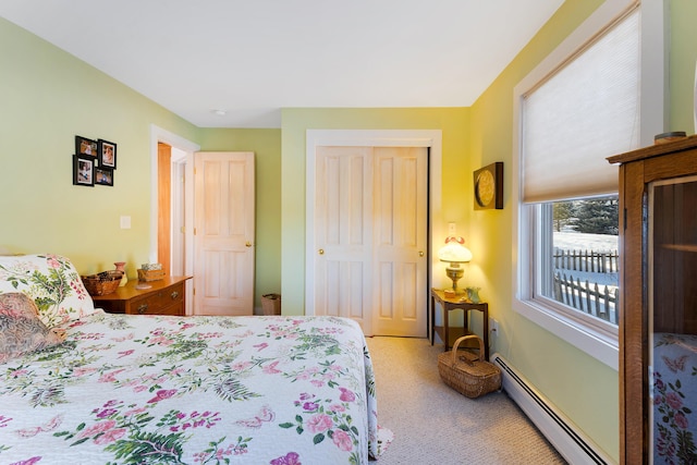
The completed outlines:
<svg viewBox="0 0 697 465">
<path fill-rule="evenodd" d="M 479 356 L 469 352 L 457 353 L 457 346 L 467 339 L 479 341 Z M 474 334 L 465 335 L 452 351 L 438 355 L 438 372 L 443 382 L 467 397 L 478 397 L 501 389 L 501 370 L 482 359 L 484 341 Z"/>
</svg>

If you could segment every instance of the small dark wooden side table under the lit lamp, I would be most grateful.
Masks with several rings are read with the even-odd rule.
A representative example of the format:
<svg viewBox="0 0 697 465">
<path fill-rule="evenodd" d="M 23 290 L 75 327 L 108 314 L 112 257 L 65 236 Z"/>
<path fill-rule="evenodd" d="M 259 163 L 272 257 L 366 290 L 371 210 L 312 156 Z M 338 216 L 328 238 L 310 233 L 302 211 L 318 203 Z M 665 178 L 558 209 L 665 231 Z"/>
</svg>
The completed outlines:
<svg viewBox="0 0 697 465">
<path fill-rule="evenodd" d="M 467 328 L 467 317 L 469 310 L 478 310 L 481 311 L 482 322 L 484 322 L 484 336 L 481 338 L 484 341 L 484 350 L 485 350 L 485 359 L 489 359 L 489 304 L 486 302 L 479 304 L 473 304 L 470 302 L 462 302 L 462 295 L 457 295 L 452 298 L 445 297 L 443 291 L 438 289 L 431 289 L 431 345 L 433 345 L 436 341 L 436 334 L 440 336 L 445 345 L 445 351 L 448 351 L 455 340 L 462 335 L 474 334 Z M 436 304 L 440 304 L 443 309 L 443 326 L 436 326 Z M 465 311 L 464 318 L 464 328 L 451 328 L 448 325 L 448 314 L 455 309 L 463 309 Z M 464 348 L 477 348 L 478 344 L 467 344 L 470 341 L 465 341 L 460 347 Z M 474 342 L 474 341 L 473 341 Z"/>
</svg>

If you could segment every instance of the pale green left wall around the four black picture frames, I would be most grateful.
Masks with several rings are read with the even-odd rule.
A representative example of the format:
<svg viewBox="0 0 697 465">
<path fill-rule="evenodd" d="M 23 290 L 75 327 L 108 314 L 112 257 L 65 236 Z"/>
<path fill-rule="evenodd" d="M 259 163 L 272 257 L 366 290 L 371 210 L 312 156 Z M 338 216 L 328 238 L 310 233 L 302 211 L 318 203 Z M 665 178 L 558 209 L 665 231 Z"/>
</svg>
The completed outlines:
<svg viewBox="0 0 697 465">
<path fill-rule="evenodd" d="M 149 257 L 150 123 L 198 129 L 0 19 L 0 245 L 70 257 L 82 273 L 127 273 Z M 72 184 L 75 135 L 118 145 L 114 186 Z M 131 216 L 132 229 L 120 229 Z"/>
</svg>

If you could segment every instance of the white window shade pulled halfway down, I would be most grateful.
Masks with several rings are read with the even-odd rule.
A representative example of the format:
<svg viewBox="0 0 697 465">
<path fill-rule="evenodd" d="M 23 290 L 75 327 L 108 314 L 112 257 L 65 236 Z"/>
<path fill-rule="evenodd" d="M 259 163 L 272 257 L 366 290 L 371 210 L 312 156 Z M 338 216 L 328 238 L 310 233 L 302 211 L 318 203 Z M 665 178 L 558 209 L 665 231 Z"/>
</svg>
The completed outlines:
<svg viewBox="0 0 697 465">
<path fill-rule="evenodd" d="M 523 100 L 523 200 L 617 192 L 607 157 L 639 146 L 639 11 Z"/>
</svg>

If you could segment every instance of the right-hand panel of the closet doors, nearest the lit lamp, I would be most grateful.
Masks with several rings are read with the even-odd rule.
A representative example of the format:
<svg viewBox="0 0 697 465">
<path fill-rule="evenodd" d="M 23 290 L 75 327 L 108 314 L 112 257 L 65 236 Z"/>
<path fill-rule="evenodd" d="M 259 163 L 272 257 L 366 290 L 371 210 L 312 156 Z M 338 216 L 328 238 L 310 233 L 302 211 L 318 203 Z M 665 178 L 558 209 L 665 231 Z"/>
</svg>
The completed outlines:
<svg viewBox="0 0 697 465">
<path fill-rule="evenodd" d="M 428 149 L 376 147 L 374 159 L 372 331 L 423 336 L 428 315 Z"/>
</svg>

